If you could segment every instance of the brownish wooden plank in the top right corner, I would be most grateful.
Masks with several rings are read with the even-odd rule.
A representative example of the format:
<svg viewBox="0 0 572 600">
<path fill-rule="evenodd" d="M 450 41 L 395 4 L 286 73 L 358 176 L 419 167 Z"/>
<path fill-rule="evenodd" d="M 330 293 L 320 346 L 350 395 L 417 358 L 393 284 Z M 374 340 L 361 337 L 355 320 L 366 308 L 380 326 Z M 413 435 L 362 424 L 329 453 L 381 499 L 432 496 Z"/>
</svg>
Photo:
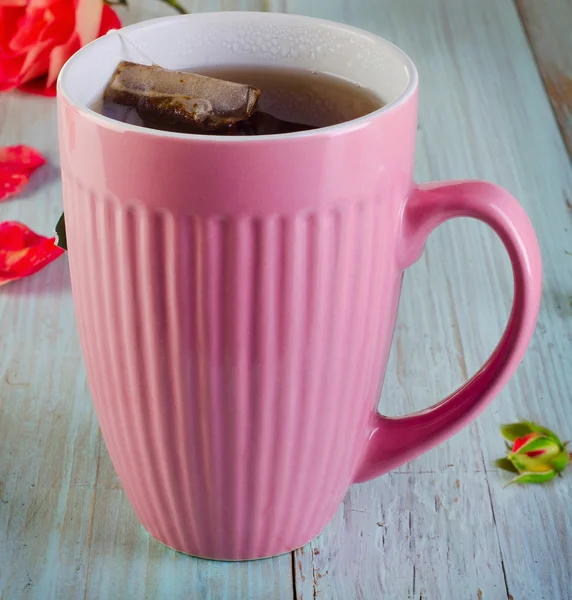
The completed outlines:
<svg viewBox="0 0 572 600">
<path fill-rule="evenodd" d="M 572 0 L 515 0 L 572 157 Z"/>
</svg>

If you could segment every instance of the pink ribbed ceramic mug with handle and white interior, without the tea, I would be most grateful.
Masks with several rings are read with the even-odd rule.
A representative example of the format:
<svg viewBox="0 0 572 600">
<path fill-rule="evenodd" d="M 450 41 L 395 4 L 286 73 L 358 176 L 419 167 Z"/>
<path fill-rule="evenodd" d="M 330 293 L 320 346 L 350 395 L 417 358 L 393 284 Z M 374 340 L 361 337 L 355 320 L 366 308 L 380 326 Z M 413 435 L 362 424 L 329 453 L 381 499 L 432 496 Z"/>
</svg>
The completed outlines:
<svg viewBox="0 0 572 600">
<path fill-rule="evenodd" d="M 89 106 L 120 59 L 108 35 L 58 85 L 69 260 L 81 343 L 111 459 L 144 527 L 229 560 L 302 546 L 352 483 L 474 419 L 532 335 L 541 264 L 517 201 L 490 183 L 416 185 L 417 72 L 369 33 L 282 14 L 197 14 L 124 30 L 165 67 L 296 66 L 388 104 L 317 131 L 164 133 Z M 508 327 L 461 389 L 377 414 L 403 271 L 429 233 L 474 217 L 514 270 Z"/>
</svg>

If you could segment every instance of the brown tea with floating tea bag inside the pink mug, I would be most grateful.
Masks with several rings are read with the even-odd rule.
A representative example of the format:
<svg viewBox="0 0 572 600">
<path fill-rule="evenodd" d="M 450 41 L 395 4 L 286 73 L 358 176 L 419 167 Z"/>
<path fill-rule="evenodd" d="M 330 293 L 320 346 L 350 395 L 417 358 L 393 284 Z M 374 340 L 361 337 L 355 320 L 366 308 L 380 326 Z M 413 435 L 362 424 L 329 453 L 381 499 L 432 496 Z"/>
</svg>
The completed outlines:
<svg viewBox="0 0 572 600">
<path fill-rule="evenodd" d="M 220 66 L 190 73 L 124 61 L 94 108 L 153 129 L 245 136 L 337 125 L 383 104 L 356 83 L 304 69 Z"/>
</svg>

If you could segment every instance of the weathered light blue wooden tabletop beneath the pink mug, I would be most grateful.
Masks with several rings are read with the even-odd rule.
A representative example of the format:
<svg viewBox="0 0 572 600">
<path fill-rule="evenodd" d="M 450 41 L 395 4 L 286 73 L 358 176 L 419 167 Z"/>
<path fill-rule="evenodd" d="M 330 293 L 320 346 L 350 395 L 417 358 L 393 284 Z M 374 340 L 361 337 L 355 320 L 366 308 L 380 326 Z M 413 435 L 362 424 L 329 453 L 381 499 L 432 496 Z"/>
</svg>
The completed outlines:
<svg viewBox="0 0 572 600">
<path fill-rule="evenodd" d="M 94 417 L 67 259 L 0 289 L 0 598 L 566 600 L 572 469 L 504 489 L 500 423 L 572 437 L 572 3 L 570 0 L 188 0 L 193 11 L 280 10 L 346 21 L 404 48 L 421 75 L 417 178 L 485 178 L 512 191 L 538 233 L 544 298 L 517 375 L 476 422 L 356 486 L 327 530 L 291 555 L 216 563 L 166 549 L 138 525 Z M 132 2 L 125 22 L 168 14 Z M 2 145 L 52 165 L 0 220 L 47 233 L 61 211 L 53 100 L 0 96 Z M 474 372 L 507 320 L 500 242 L 445 225 L 405 279 L 381 407 L 397 415 Z"/>
</svg>

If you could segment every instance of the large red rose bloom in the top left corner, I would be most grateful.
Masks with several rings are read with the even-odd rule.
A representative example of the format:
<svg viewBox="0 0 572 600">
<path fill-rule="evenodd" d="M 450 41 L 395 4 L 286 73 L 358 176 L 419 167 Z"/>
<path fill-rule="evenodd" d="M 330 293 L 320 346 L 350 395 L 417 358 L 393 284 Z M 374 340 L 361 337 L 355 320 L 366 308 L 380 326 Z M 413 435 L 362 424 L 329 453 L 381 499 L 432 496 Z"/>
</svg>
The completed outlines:
<svg viewBox="0 0 572 600">
<path fill-rule="evenodd" d="M 67 59 L 117 27 L 102 0 L 0 0 L 0 91 L 53 96 Z"/>
</svg>

